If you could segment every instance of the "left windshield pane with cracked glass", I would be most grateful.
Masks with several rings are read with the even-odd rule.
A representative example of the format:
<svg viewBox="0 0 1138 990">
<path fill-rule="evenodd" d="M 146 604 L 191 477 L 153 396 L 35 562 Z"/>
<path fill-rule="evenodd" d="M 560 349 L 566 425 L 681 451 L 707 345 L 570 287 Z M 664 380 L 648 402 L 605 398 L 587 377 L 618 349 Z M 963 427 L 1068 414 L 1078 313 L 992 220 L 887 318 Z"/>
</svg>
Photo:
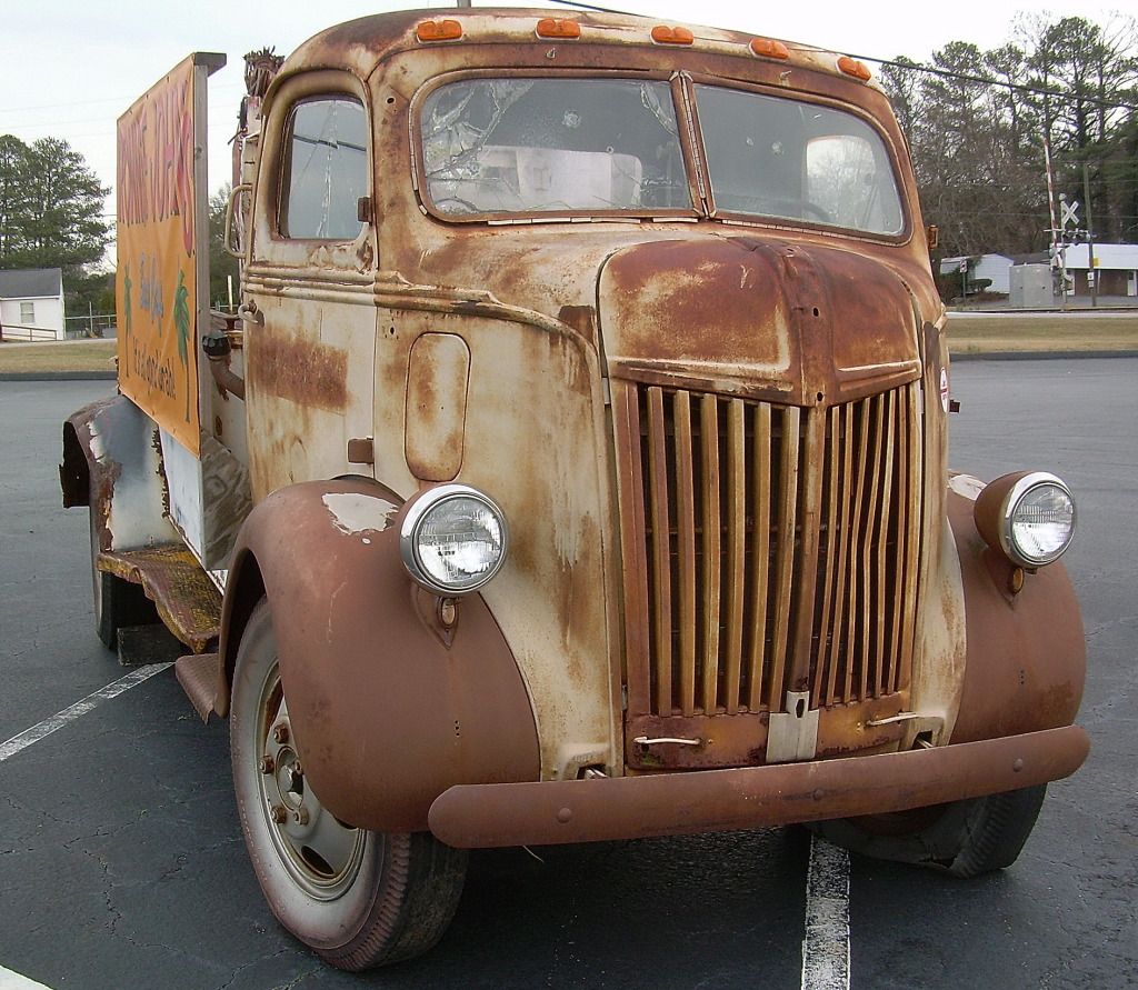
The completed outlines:
<svg viewBox="0 0 1138 990">
<path fill-rule="evenodd" d="M 692 211 L 666 82 L 468 79 L 422 108 L 443 214 Z"/>
</svg>

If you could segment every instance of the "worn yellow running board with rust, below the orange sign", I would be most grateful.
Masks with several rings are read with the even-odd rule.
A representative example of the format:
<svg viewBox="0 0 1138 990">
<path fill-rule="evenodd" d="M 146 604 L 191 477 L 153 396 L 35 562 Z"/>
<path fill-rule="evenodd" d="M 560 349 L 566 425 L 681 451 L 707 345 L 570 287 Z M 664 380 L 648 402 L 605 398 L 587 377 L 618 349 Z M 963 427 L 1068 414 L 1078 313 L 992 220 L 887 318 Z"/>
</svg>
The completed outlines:
<svg viewBox="0 0 1138 990">
<path fill-rule="evenodd" d="M 221 592 L 184 544 L 104 551 L 98 568 L 142 585 L 166 628 L 195 653 L 216 646 Z"/>
</svg>

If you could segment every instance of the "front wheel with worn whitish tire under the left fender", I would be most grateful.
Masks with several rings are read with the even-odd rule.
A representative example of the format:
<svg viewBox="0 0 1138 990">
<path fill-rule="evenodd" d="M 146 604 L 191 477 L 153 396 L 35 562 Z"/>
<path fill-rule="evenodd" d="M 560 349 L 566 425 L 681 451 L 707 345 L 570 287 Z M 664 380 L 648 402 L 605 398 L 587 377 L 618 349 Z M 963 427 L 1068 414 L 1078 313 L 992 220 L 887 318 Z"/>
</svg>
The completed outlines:
<svg viewBox="0 0 1138 990">
<path fill-rule="evenodd" d="M 457 907 L 465 850 L 428 833 L 386 834 L 338 822 L 304 783 L 292 742 L 272 616 L 262 601 L 238 649 L 230 743 L 241 828 L 269 906 L 288 931 L 341 970 L 427 951 Z M 265 758 L 272 760 L 269 772 Z M 274 808 L 283 822 L 274 819 Z"/>
</svg>

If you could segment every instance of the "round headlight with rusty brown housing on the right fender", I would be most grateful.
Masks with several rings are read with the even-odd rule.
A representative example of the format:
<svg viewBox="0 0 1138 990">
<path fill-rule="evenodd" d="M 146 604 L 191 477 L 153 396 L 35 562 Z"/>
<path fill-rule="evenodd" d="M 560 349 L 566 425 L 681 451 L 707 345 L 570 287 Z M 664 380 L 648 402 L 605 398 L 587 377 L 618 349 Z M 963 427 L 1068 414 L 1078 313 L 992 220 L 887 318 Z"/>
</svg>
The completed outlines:
<svg viewBox="0 0 1138 990">
<path fill-rule="evenodd" d="M 975 517 L 984 539 L 1025 568 L 1058 560 L 1074 536 L 1071 489 L 1044 471 L 992 481 L 976 500 Z"/>
</svg>

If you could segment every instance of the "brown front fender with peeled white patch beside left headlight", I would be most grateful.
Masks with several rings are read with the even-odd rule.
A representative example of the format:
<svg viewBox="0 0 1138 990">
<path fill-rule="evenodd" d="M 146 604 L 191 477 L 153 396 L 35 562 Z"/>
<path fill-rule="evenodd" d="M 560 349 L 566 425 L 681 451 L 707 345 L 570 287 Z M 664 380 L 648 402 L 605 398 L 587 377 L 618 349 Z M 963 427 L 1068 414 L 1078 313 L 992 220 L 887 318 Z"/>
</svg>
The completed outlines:
<svg viewBox="0 0 1138 990">
<path fill-rule="evenodd" d="M 424 830 L 455 784 L 539 770 L 533 708 L 494 617 L 471 594 L 443 627 L 438 599 L 403 567 L 398 513 L 368 481 L 273 493 L 241 528 L 222 614 L 231 673 L 263 589 L 305 777 L 343 822 L 382 832 Z"/>
</svg>

